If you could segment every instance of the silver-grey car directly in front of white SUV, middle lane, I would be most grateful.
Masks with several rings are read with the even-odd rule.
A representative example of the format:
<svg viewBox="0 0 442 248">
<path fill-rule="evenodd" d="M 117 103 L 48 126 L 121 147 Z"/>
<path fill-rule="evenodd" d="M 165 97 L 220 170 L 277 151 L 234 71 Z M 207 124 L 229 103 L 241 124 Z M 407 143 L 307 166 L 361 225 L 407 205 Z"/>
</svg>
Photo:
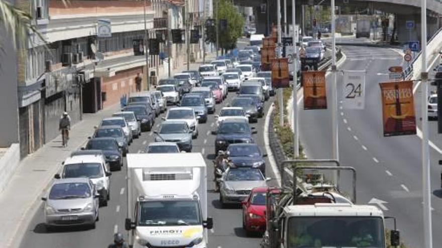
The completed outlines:
<svg viewBox="0 0 442 248">
<path fill-rule="evenodd" d="M 192 151 L 192 130 L 185 120 L 166 120 L 155 134 L 156 142 L 174 142 L 181 151 Z"/>
</svg>

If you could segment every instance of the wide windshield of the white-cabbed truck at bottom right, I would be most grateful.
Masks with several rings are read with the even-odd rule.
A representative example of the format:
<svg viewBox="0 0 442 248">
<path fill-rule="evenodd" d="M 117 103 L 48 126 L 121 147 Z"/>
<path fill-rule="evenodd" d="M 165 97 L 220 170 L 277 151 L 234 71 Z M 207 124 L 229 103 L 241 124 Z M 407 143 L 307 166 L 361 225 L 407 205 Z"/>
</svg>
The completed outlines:
<svg viewBox="0 0 442 248">
<path fill-rule="evenodd" d="M 293 216 L 287 224 L 287 247 L 383 248 L 384 224 L 372 216 Z"/>
</svg>

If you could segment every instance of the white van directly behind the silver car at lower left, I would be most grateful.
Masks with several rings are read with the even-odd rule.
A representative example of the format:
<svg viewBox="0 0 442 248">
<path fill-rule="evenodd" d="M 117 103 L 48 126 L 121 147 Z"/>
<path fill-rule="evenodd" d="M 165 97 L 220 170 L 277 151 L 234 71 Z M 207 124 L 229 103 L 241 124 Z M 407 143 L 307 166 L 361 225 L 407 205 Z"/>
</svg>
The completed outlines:
<svg viewBox="0 0 442 248">
<path fill-rule="evenodd" d="M 109 170 L 103 155 L 74 155 L 66 158 L 63 162 L 61 174 L 55 178 L 87 177 L 95 185 L 99 193 L 101 205 L 107 206 L 110 199 L 111 171 Z"/>
</svg>

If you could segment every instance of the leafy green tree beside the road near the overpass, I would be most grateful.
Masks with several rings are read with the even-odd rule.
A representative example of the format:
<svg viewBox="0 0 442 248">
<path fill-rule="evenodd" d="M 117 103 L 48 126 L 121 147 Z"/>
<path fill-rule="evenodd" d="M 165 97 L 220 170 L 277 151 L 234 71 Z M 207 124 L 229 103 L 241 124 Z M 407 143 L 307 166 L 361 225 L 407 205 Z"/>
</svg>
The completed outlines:
<svg viewBox="0 0 442 248">
<path fill-rule="evenodd" d="M 230 0 L 216 0 L 217 1 L 217 17 L 218 21 L 221 19 L 227 20 L 227 29 L 222 31 L 218 29 L 219 47 L 222 48 L 222 53 L 236 48 L 238 38 L 243 34 L 244 18 L 238 9 Z M 219 27 L 219 26 L 218 26 Z"/>
</svg>

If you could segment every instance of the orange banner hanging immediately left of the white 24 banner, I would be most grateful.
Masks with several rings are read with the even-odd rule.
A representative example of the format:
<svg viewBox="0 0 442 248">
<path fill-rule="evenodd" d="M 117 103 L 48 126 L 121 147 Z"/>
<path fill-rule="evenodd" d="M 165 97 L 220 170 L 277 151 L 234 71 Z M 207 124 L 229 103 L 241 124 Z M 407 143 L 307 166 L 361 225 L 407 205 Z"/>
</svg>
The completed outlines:
<svg viewBox="0 0 442 248">
<path fill-rule="evenodd" d="M 327 89 L 324 71 L 302 72 L 304 88 L 304 109 L 326 109 Z"/>
</svg>

